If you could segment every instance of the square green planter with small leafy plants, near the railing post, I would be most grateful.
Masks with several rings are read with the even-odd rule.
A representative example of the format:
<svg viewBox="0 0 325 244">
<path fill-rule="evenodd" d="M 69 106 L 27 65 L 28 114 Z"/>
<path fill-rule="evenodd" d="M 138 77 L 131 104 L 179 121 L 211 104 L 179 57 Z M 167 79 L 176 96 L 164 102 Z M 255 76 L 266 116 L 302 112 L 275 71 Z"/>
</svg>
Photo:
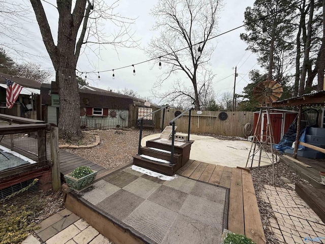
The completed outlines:
<svg viewBox="0 0 325 244">
<path fill-rule="evenodd" d="M 70 174 L 64 175 L 64 179 L 70 188 L 79 193 L 91 186 L 96 174 L 97 171 L 90 169 L 88 166 L 80 166 Z"/>
</svg>

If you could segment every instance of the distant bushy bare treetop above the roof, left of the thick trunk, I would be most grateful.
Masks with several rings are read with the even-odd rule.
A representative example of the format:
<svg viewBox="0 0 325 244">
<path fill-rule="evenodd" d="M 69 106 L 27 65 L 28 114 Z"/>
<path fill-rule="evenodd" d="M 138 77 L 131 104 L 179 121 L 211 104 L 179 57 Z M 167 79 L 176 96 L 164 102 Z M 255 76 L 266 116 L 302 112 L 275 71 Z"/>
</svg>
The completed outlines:
<svg viewBox="0 0 325 244">
<path fill-rule="evenodd" d="M 16 66 L 16 75 L 26 79 L 35 80 L 40 83 L 50 83 L 54 73 L 48 69 L 40 69 L 41 66 L 27 62 Z"/>
</svg>

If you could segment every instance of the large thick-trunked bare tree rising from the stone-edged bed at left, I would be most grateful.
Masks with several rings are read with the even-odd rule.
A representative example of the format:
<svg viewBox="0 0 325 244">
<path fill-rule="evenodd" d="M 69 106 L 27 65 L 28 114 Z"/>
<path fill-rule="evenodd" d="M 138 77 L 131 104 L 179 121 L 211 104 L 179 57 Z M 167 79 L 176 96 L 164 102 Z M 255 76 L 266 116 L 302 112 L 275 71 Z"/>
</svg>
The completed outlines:
<svg viewBox="0 0 325 244">
<path fill-rule="evenodd" d="M 112 44 L 128 46 L 133 43 L 129 35 L 129 22 L 114 13 L 114 2 L 107 6 L 104 1 L 65 0 L 52 5 L 58 12 L 58 37 L 55 45 L 50 25 L 41 0 L 30 0 L 34 9 L 42 38 L 56 72 L 56 82 L 60 97 L 60 117 L 58 127 L 64 138 L 82 137 L 80 130 L 80 104 L 76 66 L 83 44 Z M 47 3 L 44 1 L 44 3 Z M 112 21 L 119 31 L 107 36 L 103 33 L 103 20 Z M 54 32 L 54 31 L 53 31 Z M 126 37 L 126 38 L 125 38 Z M 107 41 L 112 38 L 111 41 Z"/>
</svg>

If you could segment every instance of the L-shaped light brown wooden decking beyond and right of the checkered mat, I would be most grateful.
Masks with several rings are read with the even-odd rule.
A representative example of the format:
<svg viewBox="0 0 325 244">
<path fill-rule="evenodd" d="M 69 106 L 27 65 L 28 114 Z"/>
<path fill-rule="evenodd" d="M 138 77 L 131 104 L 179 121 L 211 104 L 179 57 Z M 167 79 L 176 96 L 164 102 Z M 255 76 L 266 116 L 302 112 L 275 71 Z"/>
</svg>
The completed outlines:
<svg viewBox="0 0 325 244">
<path fill-rule="evenodd" d="M 234 233 L 245 234 L 256 244 L 266 243 L 253 181 L 248 170 L 189 160 L 177 173 L 230 188 L 228 229 Z"/>
</svg>

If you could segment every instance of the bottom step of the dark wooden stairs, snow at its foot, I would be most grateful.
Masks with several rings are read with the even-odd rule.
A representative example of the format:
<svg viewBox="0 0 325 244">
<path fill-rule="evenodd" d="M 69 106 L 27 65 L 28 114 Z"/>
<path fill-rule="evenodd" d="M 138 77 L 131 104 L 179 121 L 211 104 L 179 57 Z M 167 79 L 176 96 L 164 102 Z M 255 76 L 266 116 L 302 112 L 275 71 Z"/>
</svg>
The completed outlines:
<svg viewBox="0 0 325 244">
<path fill-rule="evenodd" d="M 181 167 L 179 164 L 171 166 L 169 164 L 154 162 L 138 155 L 133 156 L 133 164 L 165 175 L 174 175 Z"/>
</svg>

